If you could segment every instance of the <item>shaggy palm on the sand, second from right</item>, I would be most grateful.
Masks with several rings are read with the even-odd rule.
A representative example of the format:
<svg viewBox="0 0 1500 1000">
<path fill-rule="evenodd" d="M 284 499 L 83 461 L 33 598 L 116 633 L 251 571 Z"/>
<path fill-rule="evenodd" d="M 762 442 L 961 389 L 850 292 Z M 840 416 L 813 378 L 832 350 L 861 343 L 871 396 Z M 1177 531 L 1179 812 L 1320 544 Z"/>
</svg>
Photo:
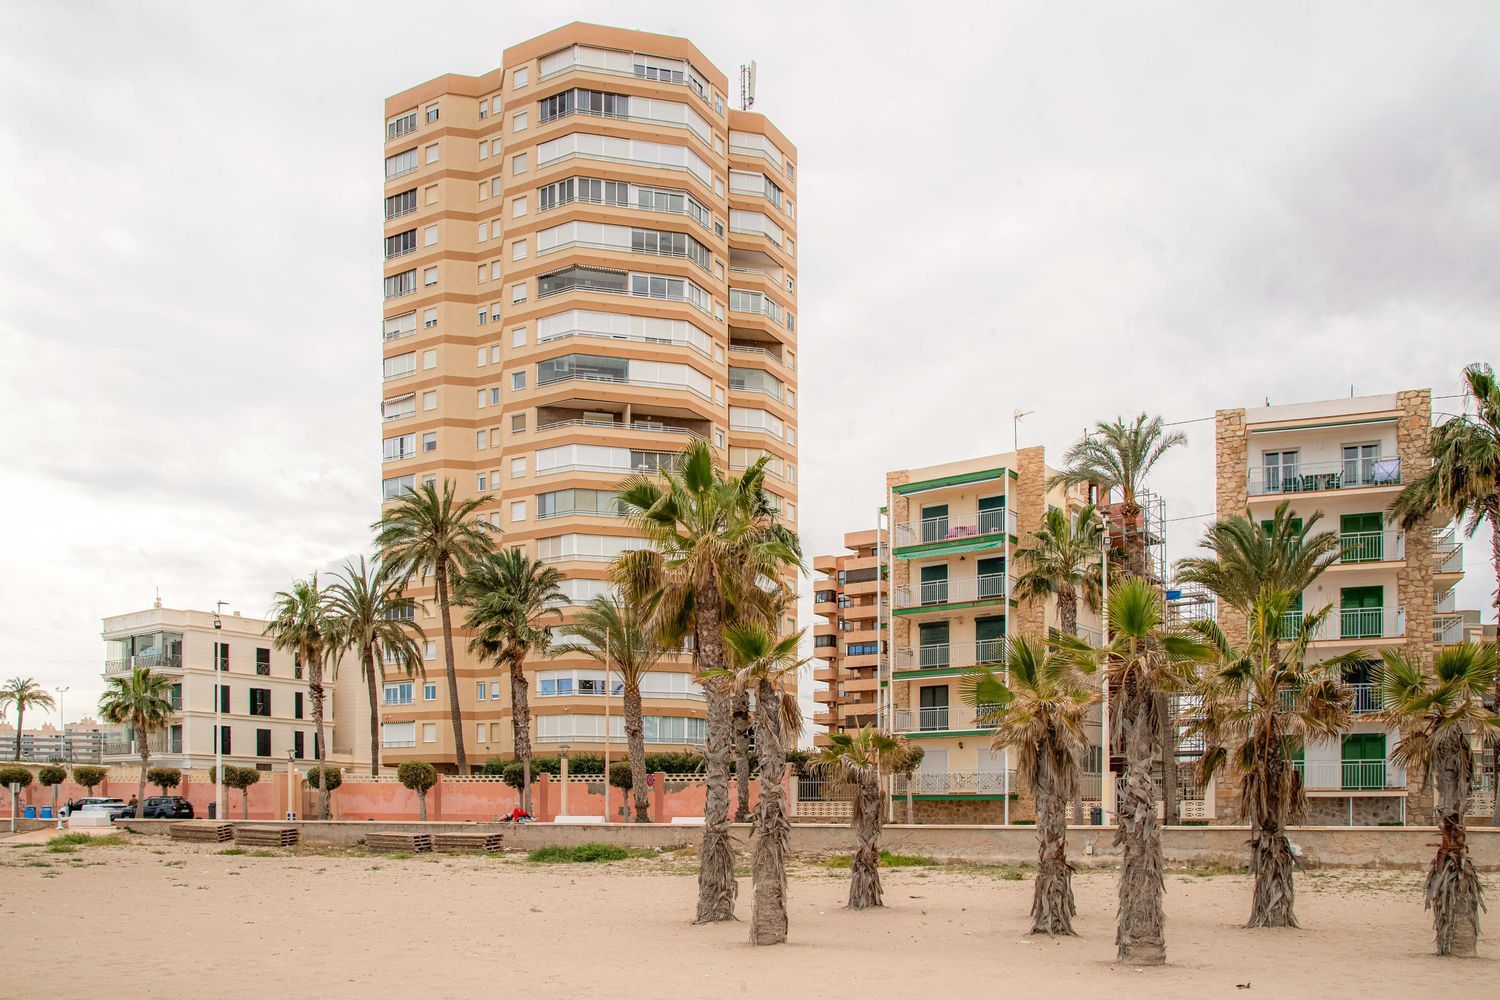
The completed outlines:
<svg viewBox="0 0 1500 1000">
<path fill-rule="evenodd" d="M 1308 646 L 1334 606 L 1302 615 L 1287 634 L 1290 606 L 1292 595 L 1268 583 L 1246 609 L 1244 649 L 1234 649 L 1210 621 L 1192 625 L 1218 649 L 1218 666 L 1200 684 L 1203 703 L 1188 733 L 1203 738 L 1204 784 L 1220 771 L 1239 777 L 1239 814 L 1250 823 L 1256 877 L 1245 927 L 1298 927 L 1287 826 L 1302 816 L 1306 795 L 1292 753 L 1348 729 L 1350 699 L 1340 675 L 1365 657 L 1354 651 L 1308 664 Z"/>
</svg>

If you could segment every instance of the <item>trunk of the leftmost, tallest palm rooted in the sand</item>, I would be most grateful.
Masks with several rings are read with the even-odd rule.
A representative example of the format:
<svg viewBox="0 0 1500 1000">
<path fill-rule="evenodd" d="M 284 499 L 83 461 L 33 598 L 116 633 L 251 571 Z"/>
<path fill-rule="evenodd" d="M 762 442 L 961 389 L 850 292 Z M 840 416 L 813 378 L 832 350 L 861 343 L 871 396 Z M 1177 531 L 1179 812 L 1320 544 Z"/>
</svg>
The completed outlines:
<svg viewBox="0 0 1500 1000">
<path fill-rule="evenodd" d="M 720 634 L 718 582 L 696 588 L 693 655 L 699 675 L 724 666 Z M 698 852 L 696 924 L 735 919 L 735 849 L 729 841 L 729 753 L 732 741 L 729 682 L 704 679 L 706 733 L 704 741 L 704 840 Z"/>
</svg>

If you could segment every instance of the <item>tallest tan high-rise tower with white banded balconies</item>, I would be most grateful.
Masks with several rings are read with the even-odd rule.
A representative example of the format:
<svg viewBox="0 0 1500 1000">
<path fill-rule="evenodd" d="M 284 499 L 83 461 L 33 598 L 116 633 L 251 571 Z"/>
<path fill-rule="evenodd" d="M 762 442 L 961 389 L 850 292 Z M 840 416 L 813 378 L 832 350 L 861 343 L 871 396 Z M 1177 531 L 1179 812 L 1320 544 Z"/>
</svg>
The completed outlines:
<svg viewBox="0 0 1500 1000">
<path fill-rule="evenodd" d="M 694 438 L 732 469 L 770 454 L 796 520 L 796 147 L 728 94 L 686 39 L 570 24 L 386 100 L 382 496 L 494 496 L 501 544 L 561 570 L 570 607 L 639 544 L 615 486 Z M 510 685 L 466 643 L 470 760 L 508 756 Z M 393 762 L 456 760 L 441 663 L 387 687 Z M 538 750 L 598 751 L 598 664 L 528 669 Z M 704 741 L 690 669 L 646 682 L 652 748 Z"/>
</svg>

